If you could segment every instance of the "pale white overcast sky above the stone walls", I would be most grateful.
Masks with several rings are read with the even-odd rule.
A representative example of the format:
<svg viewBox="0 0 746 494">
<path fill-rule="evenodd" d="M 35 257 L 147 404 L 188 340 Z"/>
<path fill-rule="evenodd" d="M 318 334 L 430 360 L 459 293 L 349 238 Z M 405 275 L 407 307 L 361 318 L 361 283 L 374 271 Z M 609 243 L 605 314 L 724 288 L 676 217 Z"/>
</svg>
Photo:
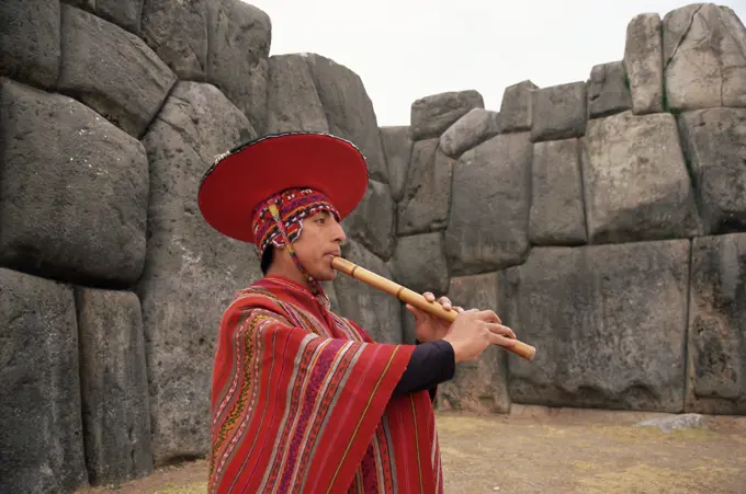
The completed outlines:
<svg viewBox="0 0 746 494">
<path fill-rule="evenodd" d="M 409 124 L 411 103 L 475 89 L 499 110 L 506 87 L 585 81 L 621 60 L 630 20 L 677 0 L 251 0 L 272 20 L 270 55 L 317 53 L 358 73 L 378 125 Z M 746 0 L 724 0 L 746 23 Z"/>
</svg>

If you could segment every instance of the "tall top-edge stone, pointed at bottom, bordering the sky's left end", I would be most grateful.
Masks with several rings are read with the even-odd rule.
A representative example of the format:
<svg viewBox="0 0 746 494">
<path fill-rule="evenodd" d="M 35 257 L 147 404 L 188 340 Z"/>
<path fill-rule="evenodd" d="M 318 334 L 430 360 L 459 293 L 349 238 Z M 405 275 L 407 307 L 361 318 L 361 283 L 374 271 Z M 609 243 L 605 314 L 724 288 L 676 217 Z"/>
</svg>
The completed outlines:
<svg viewBox="0 0 746 494">
<path fill-rule="evenodd" d="M 207 81 L 247 116 L 258 134 L 267 128 L 267 78 L 272 22 L 240 0 L 211 1 Z"/>
</svg>

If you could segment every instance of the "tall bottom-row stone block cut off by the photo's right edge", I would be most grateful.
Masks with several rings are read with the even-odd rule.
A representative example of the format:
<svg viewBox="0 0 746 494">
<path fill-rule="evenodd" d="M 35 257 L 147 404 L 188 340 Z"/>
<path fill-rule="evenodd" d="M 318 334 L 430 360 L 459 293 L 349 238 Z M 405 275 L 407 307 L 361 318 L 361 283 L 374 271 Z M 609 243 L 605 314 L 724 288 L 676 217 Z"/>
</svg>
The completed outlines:
<svg viewBox="0 0 746 494">
<path fill-rule="evenodd" d="M 746 233 L 693 240 L 687 411 L 746 414 Z"/>
</svg>

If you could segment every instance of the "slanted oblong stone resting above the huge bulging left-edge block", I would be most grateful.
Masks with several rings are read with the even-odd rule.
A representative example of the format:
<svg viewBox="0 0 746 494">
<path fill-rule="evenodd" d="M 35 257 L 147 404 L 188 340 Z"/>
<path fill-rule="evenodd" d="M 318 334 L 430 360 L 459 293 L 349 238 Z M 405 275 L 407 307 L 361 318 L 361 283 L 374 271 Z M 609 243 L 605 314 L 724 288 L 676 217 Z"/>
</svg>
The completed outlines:
<svg viewBox="0 0 746 494">
<path fill-rule="evenodd" d="M 142 39 L 93 14 L 61 5 L 57 87 L 134 137 L 150 125 L 176 76 Z"/>
</svg>

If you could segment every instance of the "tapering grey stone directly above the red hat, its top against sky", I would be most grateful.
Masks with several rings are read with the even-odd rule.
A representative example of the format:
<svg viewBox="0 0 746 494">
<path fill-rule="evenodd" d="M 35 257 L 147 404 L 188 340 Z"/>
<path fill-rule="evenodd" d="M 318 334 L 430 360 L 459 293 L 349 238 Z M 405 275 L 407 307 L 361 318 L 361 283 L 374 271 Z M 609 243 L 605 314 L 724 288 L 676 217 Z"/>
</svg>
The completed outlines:
<svg viewBox="0 0 746 494">
<path fill-rule="evenodd" d="M 305 54 L 270 57 L 267 106 L 267 134 L 329 131 L 326 113 Z"/>
</svg>

